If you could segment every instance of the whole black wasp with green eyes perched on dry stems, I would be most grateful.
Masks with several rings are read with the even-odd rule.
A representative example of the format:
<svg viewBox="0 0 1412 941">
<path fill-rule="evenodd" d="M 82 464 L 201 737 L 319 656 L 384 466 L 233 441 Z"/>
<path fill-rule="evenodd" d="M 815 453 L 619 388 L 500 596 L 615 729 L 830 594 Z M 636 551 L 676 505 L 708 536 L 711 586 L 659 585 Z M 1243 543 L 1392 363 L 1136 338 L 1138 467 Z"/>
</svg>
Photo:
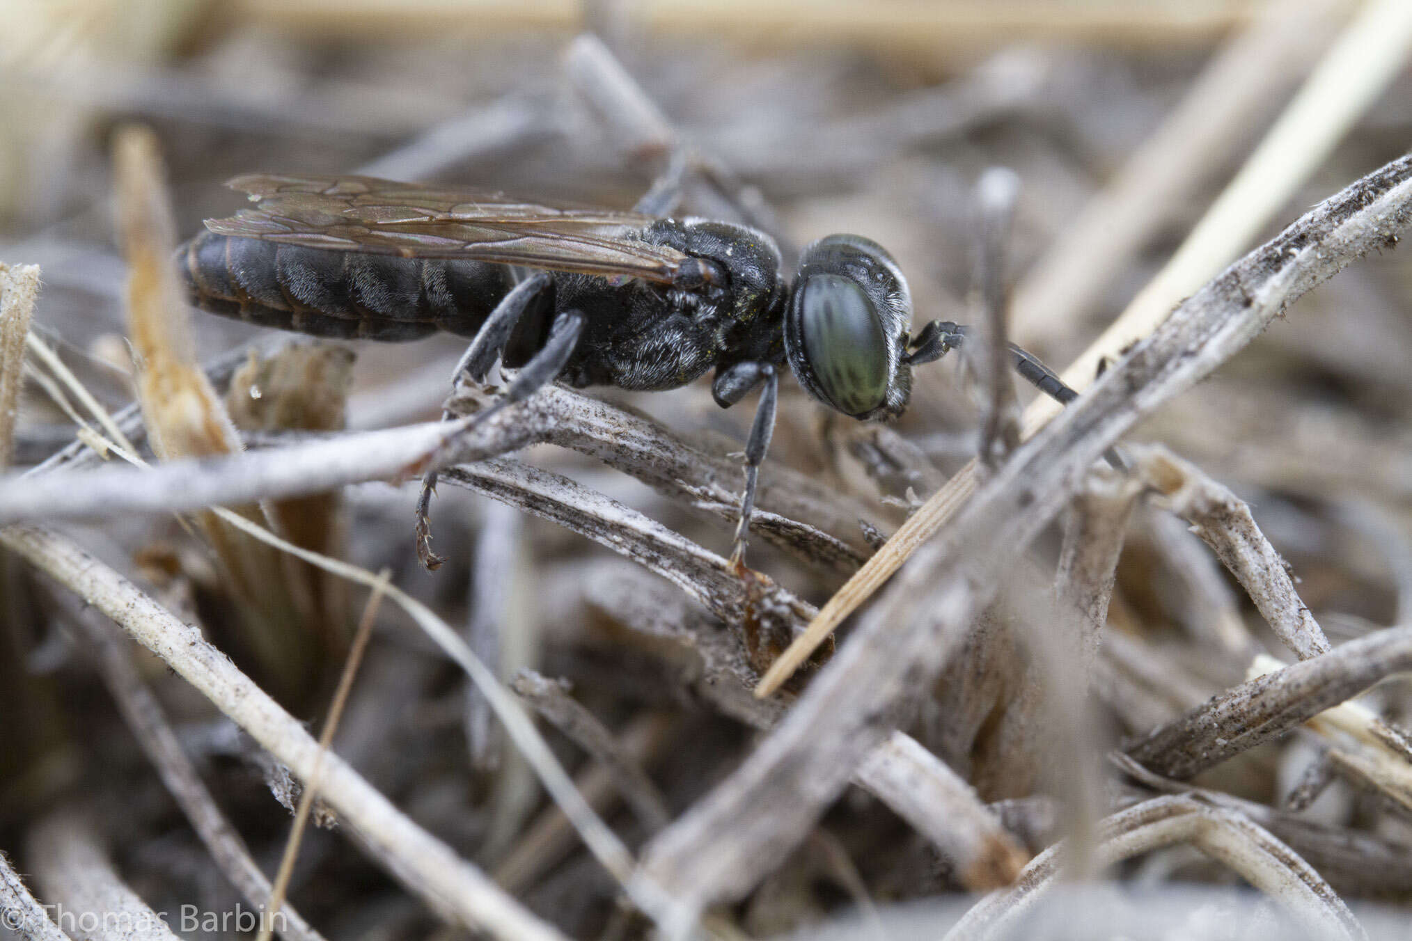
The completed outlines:
<svg viewBox="0 0 1412 941">
<path fill-rule="evenodd" d="M 943 320 L 912 336 L 907 279 L 861 236 L 815 241 L 789 284 L 770 236 L 709 219 L 367 176 L 258 174 L 229 185 L 256 207 L 208 220 L 209 231 L 178 250 L 193 302 L 213 313 L 323 337 L 473 337 L 457 374 L 481 381 L 497 357 L 520 370 L 491 408 L 554 380 L 671 389 L 714 370 L 722 408 L 764 385 L 746 444 L 737 564 L 781 365 L 829 408 L 885 420 L 907 408 L 912 367 L 967 336 Z M 1011 351 L 1027 380 L 1060 402 L 1075 398 L 1035 357 Z M 433 482 L 418 504 L 424 561 L 433 560 Z"/>
</svg>

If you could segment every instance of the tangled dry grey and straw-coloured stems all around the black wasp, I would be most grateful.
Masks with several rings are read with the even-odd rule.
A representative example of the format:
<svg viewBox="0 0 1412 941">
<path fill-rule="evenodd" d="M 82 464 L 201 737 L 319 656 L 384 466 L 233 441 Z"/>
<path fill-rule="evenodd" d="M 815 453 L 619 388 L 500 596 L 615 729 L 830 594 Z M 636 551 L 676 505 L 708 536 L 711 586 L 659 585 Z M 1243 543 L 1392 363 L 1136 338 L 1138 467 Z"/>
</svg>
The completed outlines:
<svg viewBox="0 0 1412 941">
<path fill-rule="evenodd" d="M 0 937 L 1404 937 L 1412 7 L 1178 6 L 0 24 Z M 984 337 L 892 426 L 786 382 L 758 574 L 748 406 L 472 426 L 459 341 L 167 265 L 243 171 L 668 166 Z"/>
</svg>

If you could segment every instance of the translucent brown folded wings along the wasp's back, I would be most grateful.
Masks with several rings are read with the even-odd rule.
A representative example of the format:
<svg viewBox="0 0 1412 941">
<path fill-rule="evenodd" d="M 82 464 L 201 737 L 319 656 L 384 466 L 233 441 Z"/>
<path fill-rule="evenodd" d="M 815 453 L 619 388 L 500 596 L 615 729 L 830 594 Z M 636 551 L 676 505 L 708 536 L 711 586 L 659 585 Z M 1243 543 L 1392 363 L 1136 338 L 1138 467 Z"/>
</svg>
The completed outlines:
<svg viewBox="0 0 1412 941">
<path fill-rule="evenodd" d="M 546 206 L 489 190 L 371 176 L 250 174 L 227 183 L 256 202 L 208 219 L 220 236 L 405 258 L 472 258 L 671 284 L 686 255 L 641 241 L 655 217 Z"/>
</svg>

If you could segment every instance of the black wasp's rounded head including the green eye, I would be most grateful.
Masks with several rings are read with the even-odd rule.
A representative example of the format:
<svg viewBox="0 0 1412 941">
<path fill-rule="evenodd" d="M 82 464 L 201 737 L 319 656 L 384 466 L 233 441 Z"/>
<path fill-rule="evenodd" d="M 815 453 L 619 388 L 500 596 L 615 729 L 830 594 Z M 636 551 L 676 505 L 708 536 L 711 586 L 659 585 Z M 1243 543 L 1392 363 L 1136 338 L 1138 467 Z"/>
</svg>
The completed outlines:
<svg viewBox="0 0 1412 941">
<path fill-rule="evenodd" d="M 912 319 L 892 257 L 861 236 L 805 248 L 785 317 L 785 354 L 799 384 L 854 418 L 898 415 L 911 392 L 901 361 Z"/>
</svg>

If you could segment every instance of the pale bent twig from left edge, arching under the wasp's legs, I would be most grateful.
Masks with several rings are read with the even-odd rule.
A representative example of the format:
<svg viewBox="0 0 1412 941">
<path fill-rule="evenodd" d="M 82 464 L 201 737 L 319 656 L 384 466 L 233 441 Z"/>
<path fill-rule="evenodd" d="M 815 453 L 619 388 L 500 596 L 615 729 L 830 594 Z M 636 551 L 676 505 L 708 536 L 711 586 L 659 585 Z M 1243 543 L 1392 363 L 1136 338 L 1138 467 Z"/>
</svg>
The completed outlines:
<svg viewBox="0 0 1412 941">
<path fill-rule="evenodd" d="M 483 398 L 477 395 L 469 402 L 480 405 Z M 450 403 L 452 409 L 466 405 Z M 82 474 L 6 477 L 0 478 L 0 523 L 181 512 L 402 478 L 446 435 L 457 433 L 472 420 L 359 432 L 219 460 L 168 461 L 144 471 L 100 467 Z M 703 492 L 714 492 L 714 481 L 740 475 L 738 460 L 692 447 L 657 422 L 561 387 L 546 387 L 530 401 L 479 422 L 457 439 L 457 449 L 446 461 L 470 463 L 545 442 L 633 474 L 692 506 L 702 502 Z M 810 561 L 819 559 L 819 530 L 863 557 L 868 546 L 860 521 L 877 525 L 857 501 L 843 499 L 808 474 L 784 466 L 771 467 L 761 481 L 758 505 L 771 515 L 789 518 L 792 525 L 778 523 L 767 532 L 781 536 L 785 547 Z M 734 521 L 738 509 L 714 501 L 709 514 Z M 832 561 L 826 564 L 830 571 L 834 569 Z"/>
</svg>

